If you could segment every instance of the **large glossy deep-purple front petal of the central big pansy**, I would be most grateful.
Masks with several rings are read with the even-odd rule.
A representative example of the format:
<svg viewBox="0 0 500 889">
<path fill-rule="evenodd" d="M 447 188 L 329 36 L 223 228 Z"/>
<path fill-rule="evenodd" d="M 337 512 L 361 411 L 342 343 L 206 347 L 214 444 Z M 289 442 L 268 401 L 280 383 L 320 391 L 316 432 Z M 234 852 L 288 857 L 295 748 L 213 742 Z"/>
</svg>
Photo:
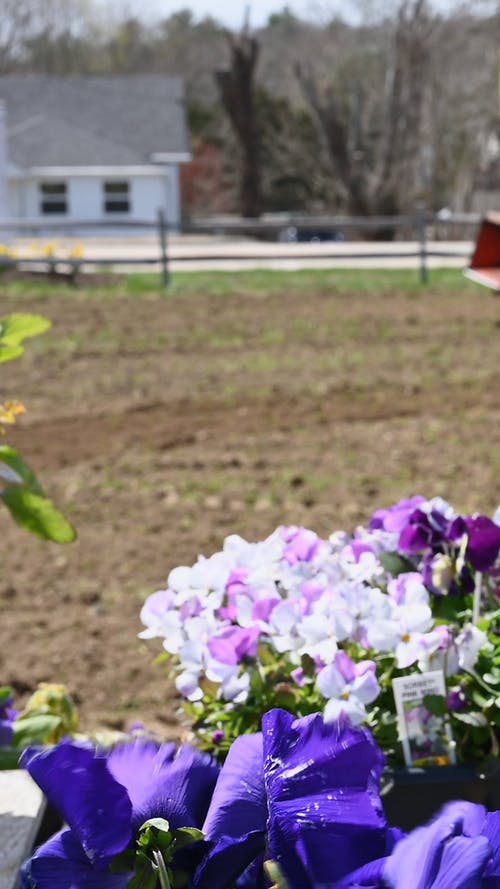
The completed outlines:
<svg viewBox="0 0 500 889">
<path fill-rule="evenodd" d="M 262 726 L 269 848 L 287 879 L 299 856 L 311 885 L 381 857 L 383 756 L 371 735 L 319 715 L 294 722 L 283 710 L 266 713 Z"/>
</svg>

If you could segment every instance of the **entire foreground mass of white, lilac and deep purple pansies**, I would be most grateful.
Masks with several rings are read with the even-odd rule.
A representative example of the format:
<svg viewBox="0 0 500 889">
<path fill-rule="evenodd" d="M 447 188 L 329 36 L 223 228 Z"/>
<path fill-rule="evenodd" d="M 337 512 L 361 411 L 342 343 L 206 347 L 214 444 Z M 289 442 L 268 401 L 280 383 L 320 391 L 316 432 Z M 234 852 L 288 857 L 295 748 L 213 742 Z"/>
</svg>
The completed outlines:
<svg viewBox="0 0 500 889">
<path fill-rule="evenodd" d="M 477 800 L 464 766 L 498 772 L 499 595 L 500 511 L 423 497 L 174 569 L 141 635 L 163 639 L 196 746 L 29 746 L 67 826 L 23 889 L 500 889 L 500 811 L 459 800 L 423 824 L 410 793 Z"/>
</svg>

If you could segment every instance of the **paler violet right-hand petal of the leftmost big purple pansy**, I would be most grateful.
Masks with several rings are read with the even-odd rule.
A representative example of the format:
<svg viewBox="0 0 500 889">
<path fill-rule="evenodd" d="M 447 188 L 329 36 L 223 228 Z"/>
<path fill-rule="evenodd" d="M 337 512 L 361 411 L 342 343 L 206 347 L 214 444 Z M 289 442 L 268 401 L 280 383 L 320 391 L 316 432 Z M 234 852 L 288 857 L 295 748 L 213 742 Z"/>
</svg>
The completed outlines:
<svg viewBox="0 0 500 889">
<path fill-rule="evenodd" d="M 219 766 L 208 753 L 183 745 L 145 785 L 140 803 L 134 806 L 134 828 L 148 818 L 165 818 L 173 829 L 200 828 L 218 775 Z"/>
</svg>

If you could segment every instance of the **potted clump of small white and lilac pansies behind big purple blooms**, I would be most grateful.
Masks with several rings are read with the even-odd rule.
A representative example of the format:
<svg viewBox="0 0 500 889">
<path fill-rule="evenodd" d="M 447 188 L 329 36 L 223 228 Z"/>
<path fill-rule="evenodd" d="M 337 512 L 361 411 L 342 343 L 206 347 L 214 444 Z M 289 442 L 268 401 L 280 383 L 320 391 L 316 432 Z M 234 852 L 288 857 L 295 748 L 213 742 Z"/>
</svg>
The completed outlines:
<svg viewBox="0 0 500 889">
<path fill-rule="evenodd" d="M 221 758 L 281 706 L 365 723 L 397 765 L 393 681 L 432 673 L 442 685 L 400 708 L 407 763 L 476 762 L 498 750 L 499 525 L 500 510 L 462 516 L 412 497 L 352 535 L 233 535 L 171 571 L 140 635 L 163 639 L 198 743 Z"/>
</svg>

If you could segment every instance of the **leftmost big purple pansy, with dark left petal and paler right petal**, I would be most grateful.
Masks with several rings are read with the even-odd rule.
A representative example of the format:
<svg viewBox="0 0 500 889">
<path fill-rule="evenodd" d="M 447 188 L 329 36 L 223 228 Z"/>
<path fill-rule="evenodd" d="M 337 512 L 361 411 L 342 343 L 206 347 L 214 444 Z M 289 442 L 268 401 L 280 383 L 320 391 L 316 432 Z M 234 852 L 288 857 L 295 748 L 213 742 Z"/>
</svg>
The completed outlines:
<svg viewBox="0 0 500 889">
<path fill-rule="evenodd" d="M 68 827 L 40 846 L 22 871 L 24 889 L 124 889 L 132 873 L 108 870 L 133 847 L 139 827 L 166 819 L 199 827 L 218 776 L 210 756 L 174 744 L 136 740 L 108 753 L 63 741 L 28 748 L 20 764 Z"/>
</svg>

